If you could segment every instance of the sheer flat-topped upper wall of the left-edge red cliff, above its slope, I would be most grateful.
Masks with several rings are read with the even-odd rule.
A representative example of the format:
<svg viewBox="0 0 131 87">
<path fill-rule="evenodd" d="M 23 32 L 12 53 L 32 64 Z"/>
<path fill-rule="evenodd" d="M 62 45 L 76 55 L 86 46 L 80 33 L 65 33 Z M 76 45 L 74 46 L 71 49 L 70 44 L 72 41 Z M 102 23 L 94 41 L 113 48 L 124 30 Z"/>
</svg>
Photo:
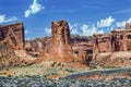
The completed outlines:
<svg viewBox="0 0 131 87">
<path fill-rule="evenodd" d="M 24 49 L 24 26 L 16 23 L 0 27 L 0 44 L 8 42 L 14 49 Z"/>
</svg>

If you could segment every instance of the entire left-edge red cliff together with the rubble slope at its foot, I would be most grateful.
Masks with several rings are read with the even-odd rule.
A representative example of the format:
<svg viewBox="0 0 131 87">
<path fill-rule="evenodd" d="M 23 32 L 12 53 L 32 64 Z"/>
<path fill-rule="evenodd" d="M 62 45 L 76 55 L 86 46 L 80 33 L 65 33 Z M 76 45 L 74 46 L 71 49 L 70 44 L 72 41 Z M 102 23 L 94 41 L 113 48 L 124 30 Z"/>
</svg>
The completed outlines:
<svg viewBox="0 0 131 87">
<path fill-rule="evenodd" d="M 0 69 L 31 64 L 24 47 L 23 23 L 0 26 Z"/>
</svg>

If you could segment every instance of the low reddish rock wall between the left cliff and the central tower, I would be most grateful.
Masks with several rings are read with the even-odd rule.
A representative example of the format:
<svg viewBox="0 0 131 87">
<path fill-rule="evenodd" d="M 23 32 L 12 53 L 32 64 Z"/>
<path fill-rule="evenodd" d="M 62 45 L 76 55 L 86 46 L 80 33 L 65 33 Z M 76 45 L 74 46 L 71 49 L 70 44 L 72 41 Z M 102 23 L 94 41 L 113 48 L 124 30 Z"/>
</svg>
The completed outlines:
<svg viewBox="0 0 131 87">
<path fill-rule="evenodd" d="M 49 53 L 50 46 L 50 37 L 36 38 L 34 40 L 25 41 L 25 50 L 27 54 L 31 55 L 38 54 L 38 57 L 43 57 Z"/>
</svg>

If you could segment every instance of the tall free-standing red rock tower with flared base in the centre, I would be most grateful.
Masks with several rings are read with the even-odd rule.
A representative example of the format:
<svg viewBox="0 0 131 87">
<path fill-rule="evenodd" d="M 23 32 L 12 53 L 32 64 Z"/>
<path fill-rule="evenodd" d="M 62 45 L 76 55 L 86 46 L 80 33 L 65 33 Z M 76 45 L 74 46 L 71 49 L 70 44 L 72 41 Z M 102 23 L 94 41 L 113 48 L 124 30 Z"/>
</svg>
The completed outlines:
<svg viewBox="0 0 131 87">
<path fill-rule="evenodd" d="M 70 29 L 66 21 L 52 22 L 50 53 L 57 61 L 72 61 Z"/>
</svg>

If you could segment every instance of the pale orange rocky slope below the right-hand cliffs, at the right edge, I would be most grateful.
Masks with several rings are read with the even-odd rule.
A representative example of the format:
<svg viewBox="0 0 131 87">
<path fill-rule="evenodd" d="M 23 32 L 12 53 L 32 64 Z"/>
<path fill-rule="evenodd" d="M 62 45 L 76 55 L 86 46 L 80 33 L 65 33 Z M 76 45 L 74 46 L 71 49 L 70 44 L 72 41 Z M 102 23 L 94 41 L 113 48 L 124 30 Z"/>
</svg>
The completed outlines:
<svg viewBox="0 0 131 87">
<path fill-rule="evenodd" d="M 90 65 L 93 67 L 131 65 L 131 53 L 128 51 L 97 53 Z"/>
</svg>

